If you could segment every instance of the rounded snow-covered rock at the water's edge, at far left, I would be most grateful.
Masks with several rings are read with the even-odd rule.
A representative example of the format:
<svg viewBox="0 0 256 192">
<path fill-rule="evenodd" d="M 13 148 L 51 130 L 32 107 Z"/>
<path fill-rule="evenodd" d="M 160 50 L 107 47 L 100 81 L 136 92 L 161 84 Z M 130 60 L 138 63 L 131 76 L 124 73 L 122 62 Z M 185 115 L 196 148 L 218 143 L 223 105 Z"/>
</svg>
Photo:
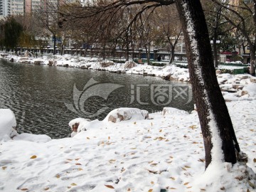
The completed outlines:
<svg viewBox="0 0 256 192">
<path fill-rule="evenodd" d="M 15 128 L 16 119 L 14 112 L 9 109 L 0 109 L 0 140 L 11 139 L 16 136 Z"/>
</svg>

